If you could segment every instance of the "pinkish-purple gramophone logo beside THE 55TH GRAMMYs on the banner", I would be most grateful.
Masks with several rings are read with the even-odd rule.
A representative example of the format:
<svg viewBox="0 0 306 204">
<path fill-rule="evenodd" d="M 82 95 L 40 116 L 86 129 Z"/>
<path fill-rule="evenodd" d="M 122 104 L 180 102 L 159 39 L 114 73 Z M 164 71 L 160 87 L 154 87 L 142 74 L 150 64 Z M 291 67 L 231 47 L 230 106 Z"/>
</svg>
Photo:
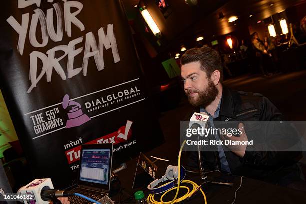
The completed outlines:
<svg viewBox="0 0 306 204">
<path fill-rule="evenodd" d="M 71 100 L 68 94 L 63 97 L 62 107 L 69 110 L 69 119 L 67 120 L 66 128 L 77 127 L 90 120 L 90 118 L 83 113 L 81 105 Z"/>
</svg>

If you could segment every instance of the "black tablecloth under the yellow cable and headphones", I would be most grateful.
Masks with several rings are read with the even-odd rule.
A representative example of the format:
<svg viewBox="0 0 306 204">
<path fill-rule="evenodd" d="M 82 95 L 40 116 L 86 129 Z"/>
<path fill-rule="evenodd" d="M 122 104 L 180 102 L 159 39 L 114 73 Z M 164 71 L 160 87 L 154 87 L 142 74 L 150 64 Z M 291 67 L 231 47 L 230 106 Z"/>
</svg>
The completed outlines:
<svg viewBox="0 0 306 204">
<path fill-rule="evenodd" d="M 129 175 L 129 179 L 131 179 L 133 175 Z M 214 180 L 217 182 L 232 182 L 233 186 L 226 185 L 218 185 L 205 183 L 202 186 L 203 191 L 207 197 L 208 204 L 220 204 L 220 203 L 232 203 L 234 200 L 234 195 L 236 189 L 240 185 L 240 176 L 234 176 L 230 174 L 221 174 L 219 172 L 212 172 L 208 174 L 209 180 Z M 197 184 L 201 184 L 203 181 L 201 180 L 198 173 L 187 173 L 186 178 L 188 180 L 192 180 Z M 122 182 L 122 181 L 121 181 Z M 125 199 L 124 203 L 133 203 L 133 200 L 128 200 L 127 194 L 133 195 L 137 190 L 144 190 L 144 194 L 147 196 L 149 194 L 148 190 L 145 188 L 142 189 L 125 189 L 125 194 L 121 194 L 121 201 Z M 170 201 L 174 195 L 175 190 L 170 192 L 163 201 Z M 186 190 L 181 189 L 179 196 L 182 196 L 186 193 Z M 159 196 L 160 197 L 160 196 Z M 158 196 L 155 197 L 156 200 L 159 200 Z M 119 195 L 112 196 L 112 200 L 119 201 Z M 204 199 L 202 194 L 198 191 L 196 194 L 192 196 L 192 199 L 189 201 L 183 201 L 181 203 L 204 203 Z M 250 179 L 243 177 L 242 178 L 242 186 L 237 191 L 236 204 L 238 203 L 306 203 L 306 193 L 289 189 L 282 186 L 276 186 L 270 183 Z"/>
</svg>

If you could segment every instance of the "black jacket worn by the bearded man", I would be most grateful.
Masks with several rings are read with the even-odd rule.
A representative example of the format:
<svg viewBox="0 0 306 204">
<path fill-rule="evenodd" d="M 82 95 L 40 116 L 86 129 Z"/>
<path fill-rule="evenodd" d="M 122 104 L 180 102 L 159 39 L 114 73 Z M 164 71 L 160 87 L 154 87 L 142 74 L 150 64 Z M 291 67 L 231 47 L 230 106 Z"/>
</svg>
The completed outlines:
<svg viewBox="0 0 306 204">
<path fill-rule="evenodd" d="M 214 121 L 280 122 L 282 120 L 282 114 L 279 110 L 261 94 L 237 92 L 223 86 L 220 105 L 219 117 L 214 119 Z M 199 108 L 188 114 L 185 120 L 189 120 L 194 112 L 199 112 Z M 246 125 L 246 134 L 247 128 Z M 269 130 L 271 127 L 265 129 Z M 287 130 L 288 128 L 285 129 Z M 243 158 L 238 157 L 232 151 L 225 151 L 232 174 L 285 185 L 299 179 L 300 170 L 296 162 L 301 155 L 300 151 L 266 151 L 266 149 L 278 149 L 275 146 L 277 145 L 277 141 L 282 141 L 282 143 L 296 143 L 298 142 L 298 137 L 294 134 L 286 135 L 282 130 L 273 129 L 273 131 L 273 133 L 267 133 L 263 146 L 247 146 Z M 223 149 L 225 148 L 223 146 Z M 205 170 L 221 170 L 217 150 L 202 151 L 201 153 Z M 186 154 L 187 165 L 197 167 L 197 152 L 186 152 Z"/>
</svg>

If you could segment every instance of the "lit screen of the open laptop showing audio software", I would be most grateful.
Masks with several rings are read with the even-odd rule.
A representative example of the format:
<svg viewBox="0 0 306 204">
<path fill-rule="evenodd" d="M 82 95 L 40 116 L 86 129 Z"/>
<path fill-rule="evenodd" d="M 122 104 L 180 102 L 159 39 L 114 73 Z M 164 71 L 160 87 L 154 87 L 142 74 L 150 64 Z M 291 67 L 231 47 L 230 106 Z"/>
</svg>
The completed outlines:
<svg viewBox="0 0 306 204">
<path fill-rule="evenodd" d="M 82 145 L 79 182 L 109 189 L 111 176 L 112 144 Z M 105 187 L 101 187 L 105 186 Z"/>
</svg>

